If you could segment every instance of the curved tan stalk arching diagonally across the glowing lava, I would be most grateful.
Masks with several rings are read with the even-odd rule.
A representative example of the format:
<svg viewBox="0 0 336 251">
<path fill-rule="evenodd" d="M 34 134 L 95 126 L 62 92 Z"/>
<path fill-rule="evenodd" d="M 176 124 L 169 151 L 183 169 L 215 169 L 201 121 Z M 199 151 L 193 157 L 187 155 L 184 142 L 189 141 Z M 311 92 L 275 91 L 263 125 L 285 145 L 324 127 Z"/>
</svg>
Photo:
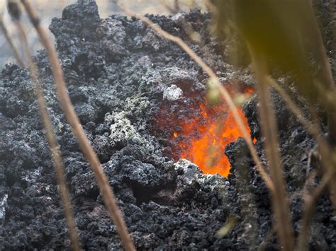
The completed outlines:
<svg viewBox="0 0 336 251">
<path fill-rule="evenodd" d="M 177 45 L 179 45 L 184 52 L 189 54 L 191 59 L 193 59 L 201 68 L 203 71 L 208 74 L 208 76 L 211 79 L 211 83 L 214 84 L 214 87 L 218 89 L 220 92 L 220 95 L 222 95 L 223 99 L 225 100 L 226 103 L 228 103 L 228 106 L 230 110 L 233 112 L 233 116 L 235 119 L 235 122 L 237 123 L 238 127 L 240 128 L 240 131 L 242 132 L 245 141 L 247 142 L 247 146 L 250 150 L 251 156 L 254 160 L 254 163 L 257 165 L 257 169 L 259 170 L 260 175 L 262 176 L 265 184 L 269 188 L 271 192 L 274 192 L 274 184 L 271 181 L 271 178 L 267 174 L 266 170 L 264 169 L 264 166 L 262 165 L 259 156 L 257 155 L 257 152 L 255 151 L 254 144 L 252 143 L 251 136 L 245 129 L 244 123 L 242 122 L 242 119 L 237 111 L 237 107 L 233 101 L 233 98 L 230 96 L 230 93 L 226 90 L 224 86 L 220 83 L 218 80 L 218 77 L 215 75 L 213 70 L 201 59 L 201 57 L 198 57 L 198 55 L 184 42 L 181 40 L 181 38 L 176 37 L 170 33 L 167 33 L 166 31 L 162 30 L 158 25 L 155 23 L 152 23 L 149 18 L 146 18 L 145 16 L 142 16 L 138 13 L 134 13 L 133 11 L 130 11 L 128 8 L 126 8 L 123 4 L 118 3 L 118 1 L 115 1 L 118 6 L 129 16 L 135 16 L 135 18 L 140 19 L 142 22 L 147 23 L 147 25 L 155 30 L 156 33 L 159 35 L 162 35 L 162 37 L 165 37 L 168 40 L 171 40 L 172 42 L 175 42 Z"/>
</svg>

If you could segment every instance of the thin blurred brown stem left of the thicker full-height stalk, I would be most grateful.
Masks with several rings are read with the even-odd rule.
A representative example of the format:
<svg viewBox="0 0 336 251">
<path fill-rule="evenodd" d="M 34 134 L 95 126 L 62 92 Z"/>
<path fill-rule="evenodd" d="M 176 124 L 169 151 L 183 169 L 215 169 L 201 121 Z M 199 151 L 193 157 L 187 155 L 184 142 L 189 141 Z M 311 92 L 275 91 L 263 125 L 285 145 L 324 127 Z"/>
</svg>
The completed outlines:
<svg viewBox="0 0 336 251">
<path fill-rule="evenodd" d="M 33 63 L 33 59 L 30 54 L 26 32 L 23 29 L 21 21 L 16 20 L 15 23 L 16 27 L 18 28 L 18 33 L 20 35 L 21 42 L 23 44 L 23 51 L 25 52 L 26 58 L 28 60 L 30 76 L 33 79 L 36 97 L 38 99 L 38 107 L 40 109 L 40 115 L 42 117 L 43 124 L 45 127 L 47 142 L 49 144 L 50 151 L 52 153 L 52 161 L 54 163 L 57 183 L 60 185 L 60 196 L 62 199 L 63 208 L 65 210 L 65 218 L 67 220 L 67 226 L 69 228 L 69 238 L 72 243 L 72 249 L 77 251 L 80 250 L 79 238 L 77 235 L 76 221 L 74 220 L 74 214 L 71 206 L 71 199 L 70 199 L 71 197 L 69 194 L 69 189 L 67 189 L 67 182 L 65 180 L 65 170 L 64 165 L 62 163 L 61 153 L 55 138 L 55 134 L 52 131 L 52 122 L 47 112 L 47 106 L 45 104 L 45 99 L 43 98 L 43 91 L 40 86 L 40 82 L 38 81 L 38 72 L 36 71 L 35 64 Z"/>
</svg>

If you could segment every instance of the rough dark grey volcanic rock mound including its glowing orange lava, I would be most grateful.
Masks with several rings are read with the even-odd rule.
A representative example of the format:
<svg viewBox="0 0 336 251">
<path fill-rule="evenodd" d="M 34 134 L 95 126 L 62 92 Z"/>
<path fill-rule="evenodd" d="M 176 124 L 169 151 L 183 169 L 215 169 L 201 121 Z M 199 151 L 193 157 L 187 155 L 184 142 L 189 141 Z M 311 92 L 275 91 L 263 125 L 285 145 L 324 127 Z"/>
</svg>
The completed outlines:
<svg viewBox="0 0 336 251">
<path fill-rule="evenodd" d="M 228 104 L 207 98 L 208 75 L 179 45 L 138 18 L 112 11 L 103 19 L 94 0 L 73 2 L 62 17 L 52 19 L 49 30 L 55 37 L 69 98 L 136 249 L 281 250 L 271 193 Z M 335 4 L 313 2 L 330 64 L 335 67 L 331 25 L 336 12 L 330 11 Z M 255 74 L 250 63 L 230 64 L 235 42 L 216 39 L 208 11 L 191 9 L 147 18 L 184 40 L 215 72 L 233 96 L 269 173 Z M 192 40 L 190 29 L 202 42 Z M 45 49 L 35 53 L 34 62 L 60 145 L 79 245 L 82 250 L 122 250 L 94 172 L 57 98 Z M 29 70 L 14 61 L 2 68 L 0 251 L 72 250 Z M 276 76 L 303 107 L 305 100 L 291 86 L 293 78 L 279 72 Z M 306 212 L 304 194 L 320 182 L 320 165 L 311 158 L 317 144 L 281 96 L 274 90 L 269 93 L 279 127 L 292 235 L 297 240 Z M 326 120 L 321 119 L 324 133 Z M 310 216 L 308 250 L 336 250 L 334 212 L 326 188 Z"/>
</svg>

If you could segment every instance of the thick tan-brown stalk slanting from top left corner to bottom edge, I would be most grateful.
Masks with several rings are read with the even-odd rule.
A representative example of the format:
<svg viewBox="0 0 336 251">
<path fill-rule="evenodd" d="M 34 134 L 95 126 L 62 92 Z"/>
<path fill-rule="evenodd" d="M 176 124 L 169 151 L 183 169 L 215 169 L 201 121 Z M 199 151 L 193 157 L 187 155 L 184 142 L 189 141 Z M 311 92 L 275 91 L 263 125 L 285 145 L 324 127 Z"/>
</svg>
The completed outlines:
<svg viewBox="0 0 336 251">
<path fill-rule="evenodd" d="M 87 160 L 89 160 L 91 168 L 94 171 L 94 175 L 96 176 L 97 183 L 99 185 L 99 188 L 101 189 L 106 208 L 113 220 L 113 223 L 116 225 L 116 229 L 119 237 L 121 238 L 121 242 L 123 243 L 123 247 L 125 248 L 125 250 L 135 250 L 133 240 L 130 238 L 130 234 L 128 233 L 125 221 L 123 221 L 123 217 L 121 216 L 121 210 L 118 208 L 116 197 L 114 197 L 112 189 L 108 184 L 108 179 L 103 173 L 103 169 L 101 168 L 101 163 L 99 162 L 96 153 L 94 153 L 94 149 L 91 147 L 89 140 L 86 138 L 84 129 L 79 122 L 79 118 L 74 111 L 74 107 L 72 106 L 71 100 L 67 93 L 67 87 L 65 86 L 63 71 L 57 57 L 55 46 L 52 44 L 50 38 L 48 37 L 47 30 L 45 30 L 43 25 L 41 25 L 38 14 L 33 8 L 31 2 L 28 0 L 21 0 L 21 3 L 26 9 L 30 21 L 37 31 L 38 36 L 40 37 L 40 40 L 47 51 L 47 55 L 51 64 L 52 75 L 54 76 L 54 80 L 56 83 L 58 98 L 60 99 L 60 103 L 65 112 L 67 120 L 72 127 L 72 131 L 77 137 L 79 146 L 82 148 L 84 156 L 87 158 Z"/>
</svg>

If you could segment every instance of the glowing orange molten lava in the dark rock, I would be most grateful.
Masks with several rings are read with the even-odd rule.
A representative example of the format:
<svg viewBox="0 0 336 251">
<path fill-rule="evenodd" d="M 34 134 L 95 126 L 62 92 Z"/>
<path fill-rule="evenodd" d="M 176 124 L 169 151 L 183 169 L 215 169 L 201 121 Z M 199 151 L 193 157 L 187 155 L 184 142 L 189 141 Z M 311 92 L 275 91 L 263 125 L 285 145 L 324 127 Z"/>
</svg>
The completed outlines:
<svg viewBox="0 0 336 251">
<path fill-rule="evenodd" d="M 245 91 L 245 93 L 251 92 L 251 89 Z M 228 177 L 230 163 L 225 156 L 225 146 L 242 137 L 242 132 L 235 122 L 233 113 L 225 104 L 215 107 L 201 104 L 199 109 L 199 117 L 189 120 L 188 123 L 182 122 L 181 130 L 173 133 L 174 141 L 179 142 L 181 148 L 179 158 L 191 160 L 203 170 L 203 173 L 218 173 Z M 250 133 L 247 119 L 240 107 L 238 112 L 247 132 Z"/>
</svg>

